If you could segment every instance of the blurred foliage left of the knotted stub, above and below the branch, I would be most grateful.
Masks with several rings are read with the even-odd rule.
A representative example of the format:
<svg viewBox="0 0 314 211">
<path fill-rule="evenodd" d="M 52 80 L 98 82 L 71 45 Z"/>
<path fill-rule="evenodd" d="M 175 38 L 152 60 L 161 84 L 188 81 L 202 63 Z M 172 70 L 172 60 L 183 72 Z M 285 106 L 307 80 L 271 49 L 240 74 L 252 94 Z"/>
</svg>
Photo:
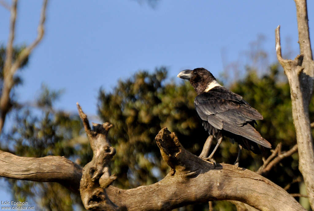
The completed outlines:
<svg viewBox="0 0 314 211">
<path fill-rule="evenodd" d="M 84 133 L 78 115 L 53 110 L 53 102 L 60 93 L 42 86 L 35 108 L 24 106 L 14 110 L 15 124 L 5 135 L 6 145 L 11 146 L 11 152 L 24 157 L 59 155 L 75 159 L 81 153 L 81 148 L 89 147 L 75 141 L 73 144 L 72 139 Z M 78 207 L 82 204 L 80 197 L 71 194 L 58 183 L 8 181 L 17 200 L 24 201 L 27 198 L 27 201 L 35 201 L 37 208 L 42 210 L 73 210 L 74 204 Z"/>
</svg>

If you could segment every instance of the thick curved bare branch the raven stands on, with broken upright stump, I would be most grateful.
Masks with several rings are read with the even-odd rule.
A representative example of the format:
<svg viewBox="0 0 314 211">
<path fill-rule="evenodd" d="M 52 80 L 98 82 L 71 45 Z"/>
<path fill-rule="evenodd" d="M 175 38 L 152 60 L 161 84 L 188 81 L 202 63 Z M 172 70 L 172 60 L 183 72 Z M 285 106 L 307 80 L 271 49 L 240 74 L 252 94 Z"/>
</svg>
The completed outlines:
<svg viewBox="0 0 314 211">
<path fill-rule="evenodd" d="M 214 168 L 192 155 L 166 128 L 156 136 L 156 142 L 175 173 L 168 173 L 158 183 L 130 190 L 109 186 L 106 192 L 119 208 L 171 210 L 211 200 L 237 200 L 259 210 L 304 210 L 289 193 L 257 173 L 229 164 Z"/>
</svg>

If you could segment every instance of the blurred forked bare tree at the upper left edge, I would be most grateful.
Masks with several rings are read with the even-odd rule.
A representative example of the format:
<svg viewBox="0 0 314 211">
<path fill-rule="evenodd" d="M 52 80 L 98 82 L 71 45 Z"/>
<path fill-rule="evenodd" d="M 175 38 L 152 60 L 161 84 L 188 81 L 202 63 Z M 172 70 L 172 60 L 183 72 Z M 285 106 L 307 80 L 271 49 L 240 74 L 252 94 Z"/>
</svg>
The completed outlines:
<svg viewBox="0 0 314 211">
<path fill-rule="evenodd" d="M 30 55 L 32 50 L 38 45 L 44 36 L 44 23 L 46 20 L 46 6 L 48 0 L 44 0 L 41 8 L 41 17 L 38 25 L 37 38 L 28 47 L 24 48 L 18 55 L 15 61 L 13 61 L 13 42 L 15 35 L 15 21 L 17 15 L 17 0 L 14 0 L 11 6 L 11 18 L 10 18 L 10 32 L 8 38 L 8 44 L 6 49 L 6 59 L 3 68 L 3 88 L 0 98 L 0 133 L 2 131 L 6 114 L 12 107 L 10 100 L 10 91 L 14 85 L 14 74 L 21 66 L 21 63 Z"/>
</svg>

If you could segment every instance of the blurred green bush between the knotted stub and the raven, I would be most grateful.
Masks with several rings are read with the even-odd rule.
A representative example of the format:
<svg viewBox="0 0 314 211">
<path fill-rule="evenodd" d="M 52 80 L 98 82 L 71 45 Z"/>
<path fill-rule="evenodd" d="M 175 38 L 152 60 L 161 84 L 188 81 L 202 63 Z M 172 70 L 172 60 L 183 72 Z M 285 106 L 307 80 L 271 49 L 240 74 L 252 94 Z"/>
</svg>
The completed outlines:
<svg viewBox="0 0 314 211">
<path fill-rule="evenodd" d="M 192 87 L 187 83 L 164 84 L 165 79 L 165 68 L 152 74 L 140 71 L 119 81 L 112 93 L 100 90 L 99 114 L 114 125 L 109 135 L 117 153 L 111 167 L 118 177 L 116 185 L 122 188 L 148 185 L 167 173 L 168 166 L 154 141 L 161 128 L 178 134 L 184 147 L 193 153 L 206 139 L 194 110 L 196 94 Z M 191 142 L 189 137 L 196 135 L 199 139 Z"/>
</svg>

